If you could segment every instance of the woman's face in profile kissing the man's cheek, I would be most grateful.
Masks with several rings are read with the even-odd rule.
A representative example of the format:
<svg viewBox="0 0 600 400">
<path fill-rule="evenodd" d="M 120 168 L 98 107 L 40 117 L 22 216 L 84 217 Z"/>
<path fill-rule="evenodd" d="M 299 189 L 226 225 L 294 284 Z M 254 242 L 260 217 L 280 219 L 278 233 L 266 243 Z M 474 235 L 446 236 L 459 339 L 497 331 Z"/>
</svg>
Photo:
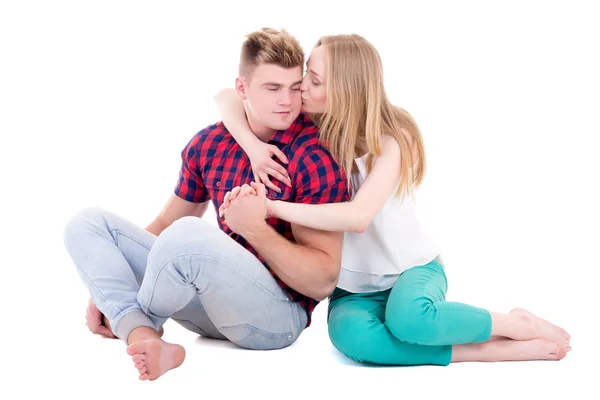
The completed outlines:
<svg viewBox="0 0 600 400">
<path fill-rule="evenodd" d="M 325 92 L 325 48 L 313 50 L 306 62 L 306 75 L 302 79 L 302 110 L 312 114 L 322 114 L 327 105 Z"/>
</svg>

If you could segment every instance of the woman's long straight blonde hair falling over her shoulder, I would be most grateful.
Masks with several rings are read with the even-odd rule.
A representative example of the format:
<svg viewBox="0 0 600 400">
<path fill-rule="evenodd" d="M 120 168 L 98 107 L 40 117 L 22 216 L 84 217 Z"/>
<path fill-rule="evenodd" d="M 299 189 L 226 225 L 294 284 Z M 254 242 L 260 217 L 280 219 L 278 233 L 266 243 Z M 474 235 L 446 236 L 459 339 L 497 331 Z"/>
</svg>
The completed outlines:
<svg viewBox="0 0 600 400">
<path fill-rule="evenodd" d="M 400 145 L 400 183 L 396 195 L 412 192 L 425 176 L 425 150 L 412 116 L 390 103 L 383 84 L 383 66 L 375 47 L 360 35 L 324 36 L 315 45 L 325 46 L 327 69 L 324 114 L 313 115 L 321 140 L 340 166 L 354 168 L 354 158 L 368 152 L 367 172 L 373 156 L 381 155 L 382 135 Z"/>
</svg>

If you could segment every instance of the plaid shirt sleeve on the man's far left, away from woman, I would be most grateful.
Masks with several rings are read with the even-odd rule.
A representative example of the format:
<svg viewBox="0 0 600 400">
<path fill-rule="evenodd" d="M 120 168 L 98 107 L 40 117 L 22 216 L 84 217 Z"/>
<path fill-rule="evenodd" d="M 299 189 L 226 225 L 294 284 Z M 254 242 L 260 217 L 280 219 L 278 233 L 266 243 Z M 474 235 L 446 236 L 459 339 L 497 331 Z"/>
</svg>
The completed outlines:
<svg viewBox="0 0 600 400">
<path fill-rule="evenodd" d="M 194 136 L 181 151 L 181 169 L 175 194 L 192 203 L 204 203 L 210 196 L 199 169 L 200 135 Z"/>
</svg>

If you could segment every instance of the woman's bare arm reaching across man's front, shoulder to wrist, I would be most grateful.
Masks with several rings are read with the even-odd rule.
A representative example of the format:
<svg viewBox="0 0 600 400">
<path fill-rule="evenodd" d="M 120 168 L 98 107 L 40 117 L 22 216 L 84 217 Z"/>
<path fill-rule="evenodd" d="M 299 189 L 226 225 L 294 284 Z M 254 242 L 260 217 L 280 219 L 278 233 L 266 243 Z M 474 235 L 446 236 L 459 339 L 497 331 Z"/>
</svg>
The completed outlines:
<svg viewBox="0 0 600 400">
<path fill-rule="evenodd" d="M 382 154 L 352 201 L 331 204 L 269 203 L 269 215 L 326 231 L 364 232 L 400 181 L 400 146 L 385 135 Z"/>
</svg>

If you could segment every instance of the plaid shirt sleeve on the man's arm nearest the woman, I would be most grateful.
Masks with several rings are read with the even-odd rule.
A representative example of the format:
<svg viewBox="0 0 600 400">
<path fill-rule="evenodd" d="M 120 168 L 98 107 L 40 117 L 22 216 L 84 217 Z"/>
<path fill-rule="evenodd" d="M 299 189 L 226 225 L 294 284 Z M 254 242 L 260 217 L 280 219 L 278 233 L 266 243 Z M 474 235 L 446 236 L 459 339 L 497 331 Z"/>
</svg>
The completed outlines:
<svg viewBox="0 0 600 400">
<path fill-rule="evenodd" d="M 320 146 L 312 146 L 298 161 L 295 203 L 339 203 L 350 199 L 346 174 Z"/>
</svg>

